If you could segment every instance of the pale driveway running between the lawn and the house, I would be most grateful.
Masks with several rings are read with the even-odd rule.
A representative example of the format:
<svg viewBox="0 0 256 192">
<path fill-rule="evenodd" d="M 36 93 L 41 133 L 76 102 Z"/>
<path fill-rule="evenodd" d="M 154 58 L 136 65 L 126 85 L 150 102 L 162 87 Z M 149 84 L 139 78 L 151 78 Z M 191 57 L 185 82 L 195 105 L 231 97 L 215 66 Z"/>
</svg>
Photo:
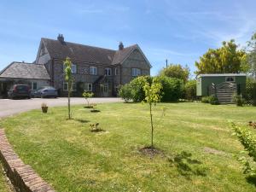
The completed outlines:
<svg viewBox="0 0 256 192">
<path fill-rule="evenodd" d="M 0 119 L 13 115 L 15 113 L 25 112 L 32 109 L 41 108 L 42 102 L 47 103 L 49 107 L 54 106 L 65 106 L 67 105 L 67 98 L 61 97 L 56 99 L 41 99 L 41 98 L 32 98 L 32 99 L 23 99 L 23 100 L 9 100 L 9 99 L 0 99 Z M 104 98 L 90 98 L 91 103 L 104 103 L 104 102 L 122 102 L 120 98 L 116 97 L 104 97 Z M 84 98 L 72 97 L 71 104 L 86 104 Z"/>
</svg>

